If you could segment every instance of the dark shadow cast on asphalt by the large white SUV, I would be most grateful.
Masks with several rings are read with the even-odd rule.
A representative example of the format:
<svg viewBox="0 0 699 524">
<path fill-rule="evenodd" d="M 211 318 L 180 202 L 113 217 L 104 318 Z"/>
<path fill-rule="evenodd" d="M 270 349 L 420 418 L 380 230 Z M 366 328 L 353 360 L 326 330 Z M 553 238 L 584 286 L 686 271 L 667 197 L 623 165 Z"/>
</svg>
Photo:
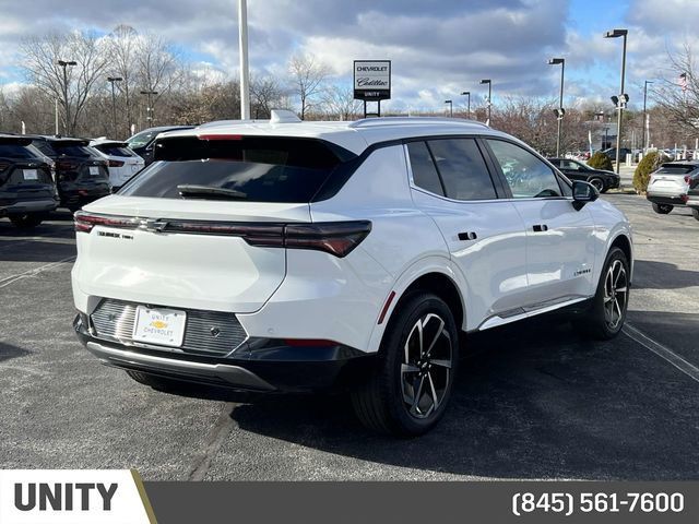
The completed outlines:
<svg viewBox="0 0 699 524">
<path fill-rule="evenodd" d="M 697 384 L 624 335 L 550 319 L 470 337 L 445 419 L 412 440 L 365 430 L 345 397 L 240 405 L 247 431 L 365 461 L 498 478 L 692 479 Z"/>
</svg>

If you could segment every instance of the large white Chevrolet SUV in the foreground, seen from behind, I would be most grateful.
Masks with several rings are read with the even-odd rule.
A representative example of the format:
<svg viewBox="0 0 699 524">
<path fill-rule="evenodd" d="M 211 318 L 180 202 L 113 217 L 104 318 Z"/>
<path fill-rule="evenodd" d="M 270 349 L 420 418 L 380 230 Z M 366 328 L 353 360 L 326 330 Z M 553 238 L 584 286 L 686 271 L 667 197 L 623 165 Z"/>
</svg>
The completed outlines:
<svg viewBox="0 0 699 524">
<path fill-rule="evenodd" d="M 206 124 L 75 214 L 74 329 L 139 382 L 352 386 L 368 427 L 442 416 L 464 333 L 624 323 L 629 224 L 522 142 L 457 119 Z M 572 307 L 572 308 L 569 308 Z"/>
</svg>

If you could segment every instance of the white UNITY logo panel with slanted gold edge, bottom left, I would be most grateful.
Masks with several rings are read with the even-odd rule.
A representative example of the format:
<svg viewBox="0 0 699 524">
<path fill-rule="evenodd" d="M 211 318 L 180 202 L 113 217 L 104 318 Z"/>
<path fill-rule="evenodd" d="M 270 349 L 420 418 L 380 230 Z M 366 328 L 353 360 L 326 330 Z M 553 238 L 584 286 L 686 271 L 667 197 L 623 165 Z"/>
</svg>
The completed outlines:
<svg viewBox="0 0 699 524">
<path fill-rule="evenodd" d="M 0 471 L 0 524 L 152 524 L 134 471 Z"/>
</svg>

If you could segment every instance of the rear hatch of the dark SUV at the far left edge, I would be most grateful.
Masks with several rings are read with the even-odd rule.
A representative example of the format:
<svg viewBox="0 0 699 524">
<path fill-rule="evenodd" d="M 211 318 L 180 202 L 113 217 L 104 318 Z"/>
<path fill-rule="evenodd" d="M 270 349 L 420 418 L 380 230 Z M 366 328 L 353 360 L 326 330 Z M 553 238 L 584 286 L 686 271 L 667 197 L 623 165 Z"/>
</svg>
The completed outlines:
<svg viewBox="0 0 699 524">
<path fill-rule="evenodd" d="M 21 136 L 0 136 L 0 205 L 56 194 L 50 165 L 28 147 L 31 143 Z"/>
</svg>

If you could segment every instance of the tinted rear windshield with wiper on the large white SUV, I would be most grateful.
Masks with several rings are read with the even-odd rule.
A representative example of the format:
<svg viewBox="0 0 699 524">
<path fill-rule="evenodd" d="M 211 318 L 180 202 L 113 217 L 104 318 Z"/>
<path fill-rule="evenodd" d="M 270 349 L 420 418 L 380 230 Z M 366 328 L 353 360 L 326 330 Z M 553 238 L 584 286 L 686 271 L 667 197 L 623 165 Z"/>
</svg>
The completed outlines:
<svg viewBox="0 0 699 524">
<path fill-rule="evenodd" d="M 156 162 L 120 194 L 305 203 L 342 164 L 339 155 L 351 154 L 308 139 L 165 139 L 157 144 Z M 187 186 L 189 191 L 181 194 Z"/>
</svg>

